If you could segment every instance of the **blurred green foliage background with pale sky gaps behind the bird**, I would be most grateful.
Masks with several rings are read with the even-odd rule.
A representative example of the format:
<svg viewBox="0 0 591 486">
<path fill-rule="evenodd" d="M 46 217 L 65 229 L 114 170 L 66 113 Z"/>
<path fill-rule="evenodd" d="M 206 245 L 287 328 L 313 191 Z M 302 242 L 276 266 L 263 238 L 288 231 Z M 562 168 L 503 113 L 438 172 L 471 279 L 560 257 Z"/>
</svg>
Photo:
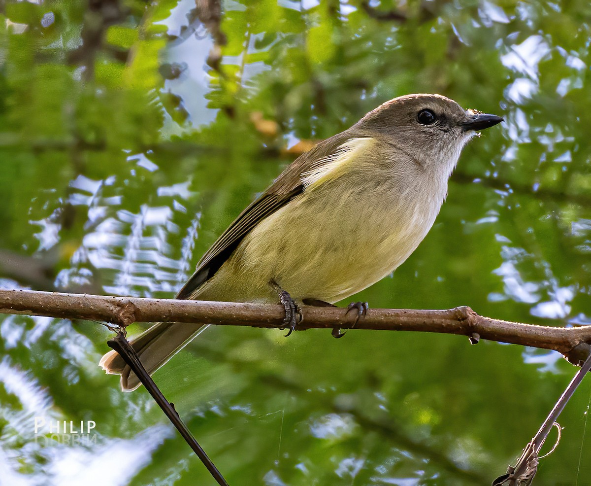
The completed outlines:
<svg viewBox="0 0 591 486">
<path fill-rule="evenodd" d="M 590 25 L 586 0 L 0 2 L 0 286 L 173 297 L 297 155 L 428 92 L 505 123 L 355 300 L 589 325 Z M 0 336 L 0 484 L 213 484 L 145 390 L 99 370 L 99 323 L 5 315 Z M 459 336 L 228 327 L 155 378 L 233 485 L 482 485 L 575 371 Z M 590 484 L 590 398 L 587 380 L 535 484 Z"/>
</svg>

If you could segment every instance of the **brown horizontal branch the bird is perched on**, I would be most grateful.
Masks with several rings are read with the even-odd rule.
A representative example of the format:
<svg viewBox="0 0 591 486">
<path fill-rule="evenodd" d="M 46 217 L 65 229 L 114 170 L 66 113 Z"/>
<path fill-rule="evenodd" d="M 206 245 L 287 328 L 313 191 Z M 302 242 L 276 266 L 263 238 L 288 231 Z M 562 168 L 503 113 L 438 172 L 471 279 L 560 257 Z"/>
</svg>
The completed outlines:
<svg viewBox="0 0 591 486">
<path fill-rule="evenodd" d="M 202 300 L 106 297 L 35 290 L 0 290 L 0 313 L 86 319 L 125 327 L 134 322 L 187 322 L 216 326 L 281 328 L 280 305 Z M 355 313 L 339 307 L 303 307 L 297 330 L 350 329 Z M 470 307 L 446 310 L 369 309 L 355 329 L 438 332 L 479 339 L 554 349 L 573 364 L 591 350 L 591 327 L 554 328 L 483 317 Z"/>
</svg>

